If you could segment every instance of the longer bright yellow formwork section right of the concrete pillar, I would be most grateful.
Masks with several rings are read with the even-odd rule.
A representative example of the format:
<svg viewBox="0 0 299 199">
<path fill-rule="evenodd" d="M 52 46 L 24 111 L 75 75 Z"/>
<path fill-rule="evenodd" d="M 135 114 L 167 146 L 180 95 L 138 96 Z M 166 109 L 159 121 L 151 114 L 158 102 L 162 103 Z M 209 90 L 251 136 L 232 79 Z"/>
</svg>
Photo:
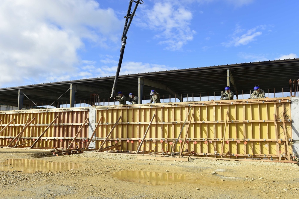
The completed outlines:
<svg viewBox="0 0 299 199">
<path fill-rule="evenodd" d="M 99 106 L 96 114 L 103 116 L 97 142 L 107 137 L 121 116 L 105 147 L 111 145 L 109 140 L 121 140 L 122 150 L 131 152 L 137 151 L 147 132 L 140 150 L 162 153 L 183 148 L 193 155 L 219 157 L 224 143 L 223 154 L 228 152 L 229 158 L 284 159 L 283 121 L 287 139 L 292 141 L 290 98 Z"/>
</svg>

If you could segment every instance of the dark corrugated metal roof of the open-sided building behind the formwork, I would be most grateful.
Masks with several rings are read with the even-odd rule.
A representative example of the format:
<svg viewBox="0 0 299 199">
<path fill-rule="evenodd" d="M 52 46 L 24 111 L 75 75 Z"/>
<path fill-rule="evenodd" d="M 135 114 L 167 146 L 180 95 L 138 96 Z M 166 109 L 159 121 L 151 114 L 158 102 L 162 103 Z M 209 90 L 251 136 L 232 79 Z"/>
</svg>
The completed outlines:
<svg viewBox="0 0 299 199">
<path fill-rule="evenodd" d="M 214 96 L 220 95 L 220 92 L 224 90 L 227 82 L 227 69 L 230 70 L 235 84 L 237 86 L 238 94 L 249 94 L 250 90 L 253 91 L 255 84 L 260 85 L 260 88 L 268 93 L 269 89 L 273 92 L 281 92 L 282 88 L 284 92 L 290 92 L 289 80 L 298 79 L 299 72 L 299 59 L 288 59 L 288 60 L 274 60 L 274 61 L 263 61 L 263 62 L 251 62 L 251 63 L 241 63 L 241 64 L 230 64 L 222 66 L 210 66 L 210 67 L 198 67 L 180 70 L 169 70 L 169 71 L 159 71 L 151 73 L 140 73 L 131 75 L 119 76 L 117 82 L 117 91 L 122 91 L 126 96 L 129 93 L 138 94 L 138 77 L 149 79 L 155 82 L 167 85 L 170 89 L 178 94 L 183 94 L 186 97 L 187 94 L 191 97 L 203 96 Z M 70 92 L 68 91 L 71 84 L 89 86 L 93 88 L 108 89 L 111 91 L 114 82 L 114 76 L 103 77 L 103 78 L 93 78 L 93 79 L 81 79 L 72 80 L 64 82 L 53 82 L 37 85 L 27 85 L 18 86 L 11 88 L 1 88 L 0 89 L 0 103 L 17 105 L 18 104 L 18 90 L 28 90 L 28 91 L 41 91 L 48 93 L 55 93 L 56 96 L 45 96 L 35 95 L 24 97 L 24 104 L 32 103 L 30 101 L 31 97 L 36 100 L 36 102 L 47 102 L 52 103 L 58 99 L 57 96 L 64 95 L 60 97 L 57 101 L 60 104 L 69 103 Z M 150 99 L 150 90 L 156 90 L 161 98 L 169 98 L 170 93 L 161 89 L 155 89 L 149 86 L 144 86 L 143 88 L 143 99 Z M 236 94 L 233 86 L 231 90 Z M 87 103 L 90 100 L 92 92 L 77 91 L 76 92 L 76 103 L 79 100 L 86 100 Z M 208 94 L 209 93 L 209 94 Z M 100 99 L 108 101 L 110 95 L 98 93 Z M 173 95 L 171 96 L 174 97 Z M 33 100 L 33 101 L 34 101 Z"/>
</svg>

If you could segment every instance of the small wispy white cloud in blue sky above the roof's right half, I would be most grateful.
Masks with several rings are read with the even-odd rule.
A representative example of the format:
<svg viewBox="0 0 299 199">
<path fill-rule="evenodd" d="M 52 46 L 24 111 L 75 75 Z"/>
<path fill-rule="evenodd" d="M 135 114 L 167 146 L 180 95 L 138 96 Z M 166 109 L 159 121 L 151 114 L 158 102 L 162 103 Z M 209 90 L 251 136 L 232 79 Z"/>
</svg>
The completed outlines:
<svg viewBox="0 0 299 199">
<path fill-rule="evenodd" d="M 260 36 L 262 34 L 262 31 L 258 30 L 264 30 L 266 29 L 265 25 L 259 25 L 257 27 L 254 27 L 248 31 L 246 31 L 245 34 L 243 32 L 244 29 L 241 29 L 239 25 L 237 25 L 234 33 L 231 35 L 231 40 L 228 42 L 223 42 L 222 45 L 225 47 L 231 47 L 231 46 L 240 46 L 240 45 L 247 45 L 248 43 L 255 41 L 257 36 Z"/>
</svg>

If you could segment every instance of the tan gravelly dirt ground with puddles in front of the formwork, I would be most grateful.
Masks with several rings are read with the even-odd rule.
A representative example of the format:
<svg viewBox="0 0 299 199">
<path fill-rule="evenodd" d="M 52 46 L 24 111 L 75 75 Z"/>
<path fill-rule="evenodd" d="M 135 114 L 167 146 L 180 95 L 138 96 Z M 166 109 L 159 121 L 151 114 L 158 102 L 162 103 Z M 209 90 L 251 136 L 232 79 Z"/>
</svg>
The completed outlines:
<svg viewBox="0 0 299 199">
<path fill-rule="evenodd" d="M 0 148 L 1 198 L 298 198 L 294 163 Z"/>
</svg>

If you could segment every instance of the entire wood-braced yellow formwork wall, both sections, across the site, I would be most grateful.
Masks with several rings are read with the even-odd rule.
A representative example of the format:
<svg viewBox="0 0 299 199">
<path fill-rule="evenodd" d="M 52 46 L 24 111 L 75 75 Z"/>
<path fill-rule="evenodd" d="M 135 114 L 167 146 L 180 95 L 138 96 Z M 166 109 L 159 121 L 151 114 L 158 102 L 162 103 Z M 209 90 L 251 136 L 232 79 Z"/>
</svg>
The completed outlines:
<svg viewBox="0 0 299 199">
<path fill-rule="evenodd" d="M 194 156 L 227 153 L 227 158 L 285 159 L 285 154 L 292 154 L 290 106 L 290 98 L 266 98 L 97 106 L 95 111 L 94 107 L 1 111 L 0 145 L 7 146 L 23 131 L 11 146 L 30 147 L 49 127 L 35 147 L 68 148 L 81 129 L 71 148 L 86 147 L 94 131 L 92 146 L 121 144 L 121 152 L 137 152 L 140 147 L 161 154 L 183 147 Z M 94 122 L 84 123 L 88 117 Z"/>
</svg>

